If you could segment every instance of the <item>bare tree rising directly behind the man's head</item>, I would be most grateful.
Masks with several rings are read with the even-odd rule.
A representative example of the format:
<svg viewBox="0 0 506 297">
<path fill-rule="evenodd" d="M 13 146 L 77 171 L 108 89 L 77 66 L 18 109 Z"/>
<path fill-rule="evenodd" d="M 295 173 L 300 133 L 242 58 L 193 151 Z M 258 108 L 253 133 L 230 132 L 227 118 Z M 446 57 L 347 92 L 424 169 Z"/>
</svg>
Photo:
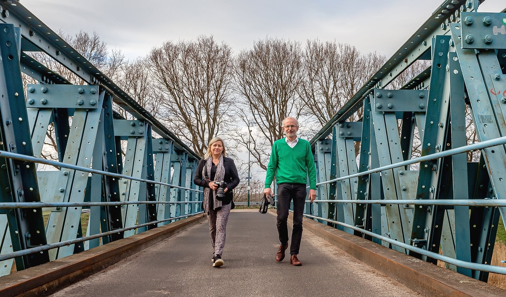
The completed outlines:
<svg viewBox="0 0 506 297">
<path fill-rule="evenodd" d="M 302 50 L 297 41 L 266 38 L 241 51 L 235 63 L 235 86 L 239 98 L 237 113 L 248 127 L 238 134 L 238 143 L 247 148 L 250 133 L 253 163 L 267 169 L 274 141 L 283 137 L 281 121 L 297 106 L 301 81 Z M 251 131 L 251 132 L 250 132 Z"/>
</svg>

